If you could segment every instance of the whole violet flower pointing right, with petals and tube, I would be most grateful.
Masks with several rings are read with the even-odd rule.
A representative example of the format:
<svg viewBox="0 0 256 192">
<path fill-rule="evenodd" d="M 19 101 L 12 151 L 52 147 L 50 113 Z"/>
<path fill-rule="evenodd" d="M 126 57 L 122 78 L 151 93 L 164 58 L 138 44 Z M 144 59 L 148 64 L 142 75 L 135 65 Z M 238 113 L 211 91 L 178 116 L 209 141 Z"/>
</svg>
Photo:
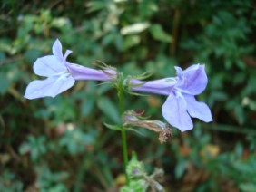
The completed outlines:
<svg viewBox="0 0 256 192">
<path fill-rule="evenodd" d="M 205 122 L 212 121 L 209 107 L 196 101 L 194 97 L 202 93 L 208 82 L 204 65 L 194 64 L 185 71 L 176 66 L 175 70 L 177 77 L 149 82 L 132 79 L 130 90 L 168 95 L 162 105 L 162 115 L 173 127 L 181 131 L 192 130 L 191 117 Z"/>
</svg>

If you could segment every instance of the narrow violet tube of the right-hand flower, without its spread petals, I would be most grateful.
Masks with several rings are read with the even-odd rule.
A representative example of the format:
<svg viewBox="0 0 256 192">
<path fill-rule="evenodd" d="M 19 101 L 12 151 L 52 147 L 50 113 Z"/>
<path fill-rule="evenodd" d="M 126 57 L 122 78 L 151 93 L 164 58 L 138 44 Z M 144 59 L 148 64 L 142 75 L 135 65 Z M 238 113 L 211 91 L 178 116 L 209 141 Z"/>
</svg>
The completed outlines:
<svg viewBox="0 0 256 192">
<path fill-rule="evenodd" d="M 140 81 L 136 79 L 130 80 L 131 91 L 139 91 L 139 92 L 150 92 L 160 95 L 169 95 L 173 91 L 173 87 L 176 84 L 176 81 L 173 79 L 160 79 L 154 81 Z M 138 85 L 138 86 L 136 86 Z"/>
</svg>

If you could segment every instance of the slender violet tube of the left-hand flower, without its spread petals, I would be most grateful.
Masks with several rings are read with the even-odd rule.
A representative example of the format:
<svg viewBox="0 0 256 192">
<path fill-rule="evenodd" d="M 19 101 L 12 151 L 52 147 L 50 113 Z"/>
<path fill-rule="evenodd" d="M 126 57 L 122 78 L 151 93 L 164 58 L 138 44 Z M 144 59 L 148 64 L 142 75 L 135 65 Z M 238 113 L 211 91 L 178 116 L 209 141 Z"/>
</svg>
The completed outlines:
<svg viewBox="0 0 256 192">
<path fill-rule="evenodd" d="M 95 80 L 95 81 L 112 81 L 113 72 L 103 72 L 102 70 L 94 70 L 82 65 L 67 63 L 69 72 L 71 72 L 74 80 Z"/>
</svg>

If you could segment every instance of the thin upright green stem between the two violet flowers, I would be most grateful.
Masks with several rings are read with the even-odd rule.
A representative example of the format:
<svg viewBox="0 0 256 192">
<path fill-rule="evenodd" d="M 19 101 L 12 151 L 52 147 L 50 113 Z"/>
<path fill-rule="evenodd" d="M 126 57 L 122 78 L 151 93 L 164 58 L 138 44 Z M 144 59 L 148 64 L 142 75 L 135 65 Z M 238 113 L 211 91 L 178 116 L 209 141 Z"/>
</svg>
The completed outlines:
<svg viewBox="0 0 256 192">
<path fill-rule="evenodd" d="M 119 97 L 119 112 L 120 112 L 120 119 L 121 119 L 121 136 L 122 136 L 122 147 L 123 147 L 123 162 L 124 162 L 124 172 L 125 172 L 125 184 L 126 186 L 129 185 L 129 178 L 128 174 L 126 171 L 126 166 L 128 164 L 128 150 L 127 150 L 127 143 L 126 143 L 126 134 L 125 130 L 123 128 L 122 124 L 122 119 L 123 119 L 123 112 L 124 112 L 124 107 L 123 107 L 123 75 L 120 74 L 120 81 L 118 85 L 118 97 Z"/>
</svg>

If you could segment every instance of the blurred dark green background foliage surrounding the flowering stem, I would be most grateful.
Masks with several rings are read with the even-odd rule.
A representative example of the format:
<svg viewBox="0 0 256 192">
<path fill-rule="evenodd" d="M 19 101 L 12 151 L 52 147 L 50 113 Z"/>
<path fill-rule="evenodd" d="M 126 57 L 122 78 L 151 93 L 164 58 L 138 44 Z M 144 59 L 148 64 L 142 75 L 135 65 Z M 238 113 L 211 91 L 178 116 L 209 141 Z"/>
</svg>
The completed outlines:
<svg viewBox="0 0 256 192">
<path fill-rule="evenodd" d="M 123 184 L 116 95 L 108 85 L 76 82 L 56 98 L 28 101 L 40 79 L 36 58 L 56 38 L 84 66 L 101 60 L 128 74 L 174 76 L 174 65 L 205 63 L 199 100 L 210 124 L 160 144 L 128 132 L 149 172 L 163 168 L 167 191 L 256 191 L 256 4 L 250 0 L 3 0 L 0 3 L 1 191 L 114 191 Z M 165 97 L 125 95 L 127 110 L 163 120 Z"/>
</svg>

